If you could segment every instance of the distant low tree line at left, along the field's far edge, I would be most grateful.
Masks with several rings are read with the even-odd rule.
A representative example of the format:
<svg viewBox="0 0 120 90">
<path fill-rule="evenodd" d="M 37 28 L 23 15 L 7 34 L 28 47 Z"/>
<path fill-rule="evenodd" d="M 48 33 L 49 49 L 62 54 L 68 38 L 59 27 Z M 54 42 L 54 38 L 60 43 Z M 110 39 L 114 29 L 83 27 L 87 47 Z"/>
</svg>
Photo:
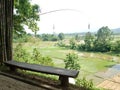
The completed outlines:
<svg viewBox="0 0 120 90">
<path fill-rule="evenodd" d="M 33 34 L 22 34 L 22 35 L 14 35 L 13 42 L 29 42 L 32 39 L 36 38 L 42 41 L 59 41 L 65 38 L 64 33 L 56 34 L 37 34 L 35 37 Z"/>
</svg>

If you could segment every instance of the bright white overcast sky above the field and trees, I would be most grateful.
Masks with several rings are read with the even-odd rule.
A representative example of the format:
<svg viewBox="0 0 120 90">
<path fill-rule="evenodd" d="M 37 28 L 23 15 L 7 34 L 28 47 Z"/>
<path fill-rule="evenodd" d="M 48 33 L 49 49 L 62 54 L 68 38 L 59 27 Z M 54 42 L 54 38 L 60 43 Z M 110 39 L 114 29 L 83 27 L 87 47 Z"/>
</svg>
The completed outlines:
<svg viewBox="0 0 120 90">
<path fill-rule="evenodd" d="M 110 29 L 120 27 L 119 0 L 32 0 L 31 2 L 38 4 L 41 9 L 38 33 L 94 32 L 102 26 L 108 26 Z M 61 11 L 42 14 L 54 10 Z"/>
</svg>

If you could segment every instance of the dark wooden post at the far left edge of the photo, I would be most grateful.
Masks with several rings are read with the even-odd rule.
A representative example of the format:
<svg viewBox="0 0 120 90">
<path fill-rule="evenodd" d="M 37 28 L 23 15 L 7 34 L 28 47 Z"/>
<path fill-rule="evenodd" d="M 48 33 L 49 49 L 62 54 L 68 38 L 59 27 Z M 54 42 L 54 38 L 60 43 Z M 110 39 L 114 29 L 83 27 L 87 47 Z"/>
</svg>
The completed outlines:
<svg viewBox="0 0 120 90">
<path fill-rule="evenodd" d="M 5 42 L 5 0 L 0 0 L 0 62 L 6 60 L 6 42 Z"/>
</svg>

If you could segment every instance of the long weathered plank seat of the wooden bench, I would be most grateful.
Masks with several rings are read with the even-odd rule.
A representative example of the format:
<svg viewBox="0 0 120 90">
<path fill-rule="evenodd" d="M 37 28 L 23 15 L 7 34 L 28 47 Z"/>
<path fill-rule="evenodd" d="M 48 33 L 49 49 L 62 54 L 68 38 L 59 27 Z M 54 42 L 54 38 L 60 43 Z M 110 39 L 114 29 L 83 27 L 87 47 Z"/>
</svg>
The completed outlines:
<svg viewBox="0 0 120 90">
<path fill-rule="evenodd" d="M 17 61 L 7 61 L 4 62 L 6 65 L 10 65 L 13 67 L 46 73 L 46 74 L 54 74 L 54 75 L 61 75 L 61 76 L 67 76 L 67 77 L 77 77 L 79 71 L 77 70 L 67 70 L 62 68 L 56 68 L 51 66 L 43 66 L 38 64 L 28 64 L 23 62 L 17 62 Z"/>
</svg>

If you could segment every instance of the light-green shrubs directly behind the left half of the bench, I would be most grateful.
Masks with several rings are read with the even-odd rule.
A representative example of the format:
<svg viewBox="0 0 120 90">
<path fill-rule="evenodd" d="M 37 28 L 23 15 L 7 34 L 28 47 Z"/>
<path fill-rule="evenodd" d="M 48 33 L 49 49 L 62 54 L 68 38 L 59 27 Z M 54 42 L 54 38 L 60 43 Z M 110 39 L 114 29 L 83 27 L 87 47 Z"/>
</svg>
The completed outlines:
<svg viewBox="0 0 120 90">
<path fill-rule="evenodd" d="M 41 65 L 53 66 L 54 63 L 52 59 L 48 56 L 42 56 L 42 54 L 37 50 L 37 48 L 33 49 L 32 55 L 29 54 L 25 49 L 23 49 L 22 44 L 18 44 L 14 49 L 14 59 L 20 62 L 26 63 L 35 63 Z"/>
</svg>

